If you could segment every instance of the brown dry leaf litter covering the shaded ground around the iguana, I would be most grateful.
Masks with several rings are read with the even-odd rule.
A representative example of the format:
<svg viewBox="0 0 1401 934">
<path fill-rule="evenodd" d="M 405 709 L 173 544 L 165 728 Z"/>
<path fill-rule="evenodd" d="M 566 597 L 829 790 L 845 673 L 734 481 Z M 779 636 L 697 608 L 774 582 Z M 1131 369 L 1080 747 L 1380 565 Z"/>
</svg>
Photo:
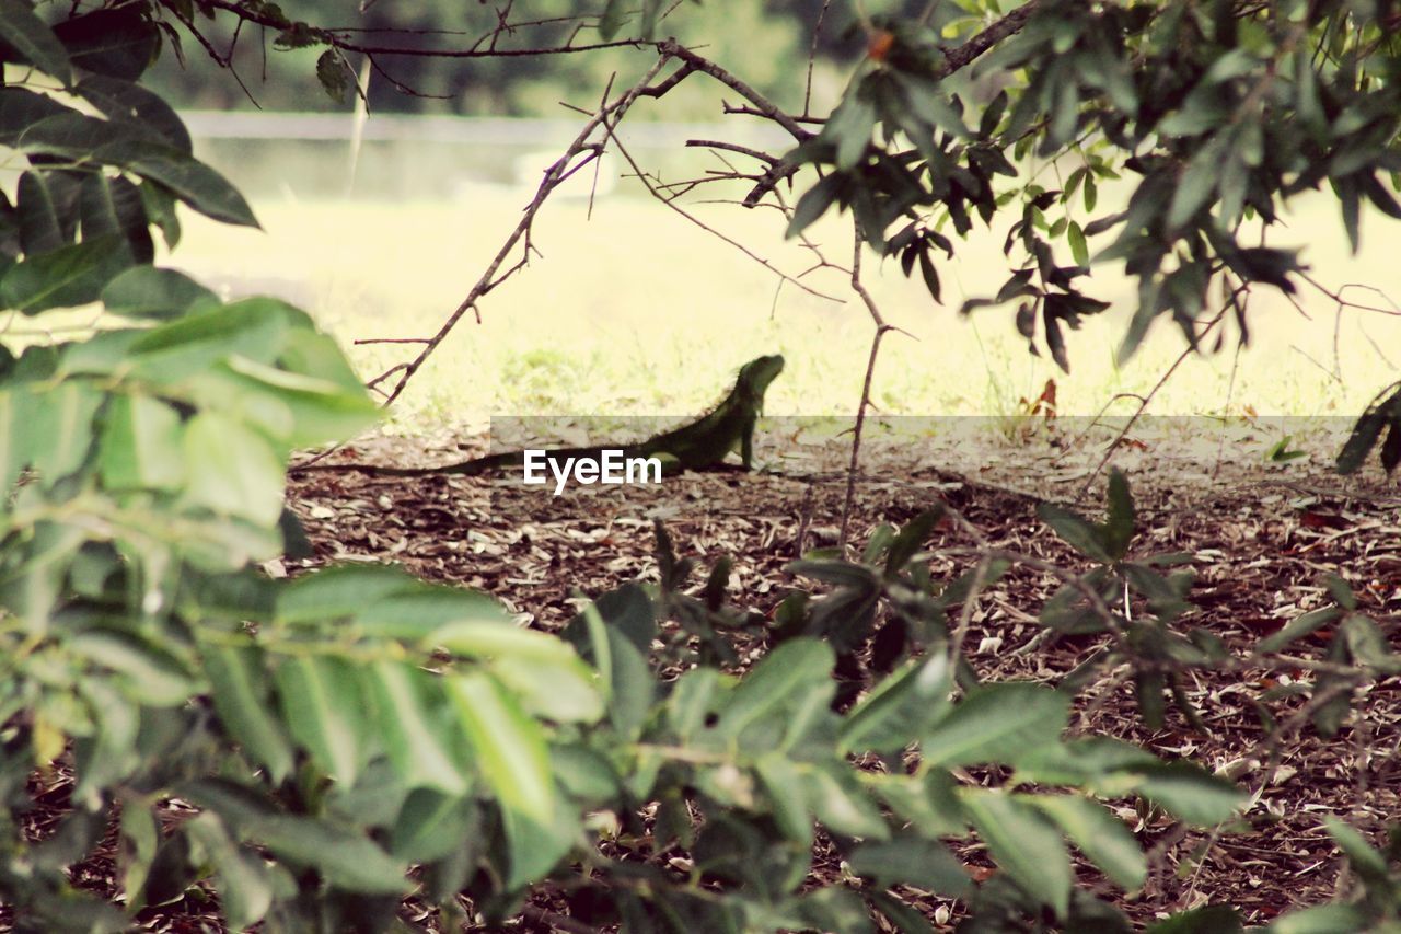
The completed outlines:
<svg viewBox="0 0 1401 934">
<path fill-rule="evenodd" d="M 1038 498 L 1098 517 L 1103 477 L 1079 499 L 1098 461 L 1110 429 L 1080 431 L 1061 424 L 1003 426 L 1000 435 L 946 432 L 943 438 L 873 438 L 862 457 L 850 537 L 864 543 L 878 523 L 902 523 L 934 502 L 967 520 L 944 522 L 927 543 L 936 578 L 951 579 L 971 558 L 950 558 L 940 548 L 982 544 L 1082 567 L 1035 517 Z M 1328 452 L 1337 439 L 1316 439 L 1311 457 L 1269 461 L 1261 442 L 1278 429 L 1245 424 L 1226 433 L 1206 422 L 1175 424 L 1129 433 L 1115 453 L 1132 485 L 1139 536 L 1131 557 L 1185 551 L 1194 555 L 1196 609 L 1182 625 L 1210 630 L 1240 655 L 1330 597 L 1324 574 L 1344 576 L 1358 595 L 1359 611 L 1372 616 L 1394 649 L 1401 649 L 1401 489 L 1374 467 L 1359 478 L 1330 473 Z M 338 452 L 332 461 L 422 466 L 461 460 L 483 445 L 437 439 L 380 438 Z M 1288 439 L 1286 439 L 1288 440 Z M 1330 445 L 1334 445 L 1330 447 Z M 1289 453 L 1274 452 L 1276 459 Z M 804 550 L 832 546 L 839 534 L 843 473 L 849 447 L 838 439 L 804 439 L 801 432 L 768 435 L 758 460 L 765 470 L 720 470 L 668 477 L 656 488 L 576 488 L 552 496 L 479 477 L 374 477 L 363 473 L 304 473 L 289 488 L 315 557 L 287 561 L 273 572 L 333 561 L 395 561 L 430 581 L 482 589 L 502 600 L 523 623 L 559 628 L 587 596 L 630 579 L 656 578 L 653 522 L 668 529 L 678 551 L 709 568 L 722 555 L 734 561 L 730 599 L 736 606 L 769 613 L 783 595 L 804 582 L 785 565 Z M 696 575 L 696 586 L 703 575 Z M 1031 571 L 1013 571 L 985 592 L 974 613 L 965 649 L 989 679 L 1054 682 L 1100 644 L 1093 638 L 1033 641 L 1041 632 L 1035 614 L 1058 582 Z M 1295 647 L 1318 656 L 1327 632 Z M 747 661 L 762 644 L 741 645 Z M 1201 712 L 1194 726 L 1170 707 L 1163 729 L 1149 731 L 1138 718 L 1129 682 L 1104 682 L 1087 693 L 1073 729 L 1143 743 L 1166 757 L 1191 757 L 1234 778 L 1254 798 L 1243 820 L 1215 832 L 1187 832 L 1167 818 L 1119 808 L 1119 816 L 1150 850 L 1152 874 L 1143 891 L 1115 892 L 1082 865 L 1082 881 L 1111 899 L 1140 924 L 1173 910 L 1206 902 L 1233 905 L 1252 924 L 1268 923 L 1290 907 L 1314 905 L 1348 891 L 1345 864 L 1321 826 L 1337 815 L 1373 843 L 1387 822 L 1401 820 L 1401 679 L 1388 679 L 1359 697 L 1341 732 L 1321 738 L 1300 724 L 1281 743 L 1271 743 L 1258 715 L 1259 697 L 1302 669 L 1259 672 L 1245 677 L 1194 677 L 1187 694 Z M 1288 722 L 1302 698 L 1272 701 L 1278 722 Z M 998 776 L 969 770 L 965 781 L 995 783 Z M 34 832 L 62 812 L 63 778 L 36 787 L 41 806 Z M 172 819 L 179 815 L 172 813 Z M 52 825 L 50 825 L 52 826 Z M 975 878 L 993 864 L 974 843 L 955 853 Z M 112 891 L 111 854 L 80 867 L 84 885 Z M 821 844 L 815 874 L 842 877 Z M 927 893 L 901 895 L 948 930 L 957 906 Z M 405 903 L 406 919 L 422 906 Z M 583 930 L 567 917 L 562 898 L 542 892 L 516 930 Z M 153 930 L 209 930 L 216 917 L 198 893 L 147 916 Z"/>
</svg>

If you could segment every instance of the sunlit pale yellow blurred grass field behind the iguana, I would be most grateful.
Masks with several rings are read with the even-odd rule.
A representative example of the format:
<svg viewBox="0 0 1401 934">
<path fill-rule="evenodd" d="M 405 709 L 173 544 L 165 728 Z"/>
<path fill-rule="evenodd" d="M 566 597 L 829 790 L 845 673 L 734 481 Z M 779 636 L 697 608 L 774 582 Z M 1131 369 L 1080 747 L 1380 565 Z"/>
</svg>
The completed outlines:
<svg viewBox="0 0 1401 934">
<path fill-rule="evenodd" d="M 437 202 L 298 201 L 263 196 L 262 231 L 191 217 L 175 265 L 233 293 L 282 293 L 307 307 L 350 346 L 366 338 L 433 334 L 496 252 L 521 208 L 524 188 L 460 188 Z M 1103 201 L 1103 198 L 1101 198 Z M 776 210 L 692 203 L 688 210 L 790 275 L 814 255 L 783 241 Z M 1100 210 L 1105 210 L 1101 203 Z M 1335 202 L 1292 205 L 1272 245 L 1304 247 L 1314 275 L 1332 287 L 1365 283 L 1401 299 L 1394 229 L 1367 216 L 1363 251 L 1351 257 Z M 737 367 L 771 352 L 787 358 L 766 404 L 778 415 L 855 411 L 871 323 L 845 275 L 824 269 L 803 280 L 831 302 L 780 282 L 736 247 L 665 206 L 625 188 L 598 199 L 545 206 L 532 243 L 539 255 L 481 303 L 396 402 L 389 431 L 444 425 L 478 429 L 492 415 L 691 414 L 727 388 Z M 843 220 L 813 229 L 831 262 L 849 264 Z M 1091 240 L 1091 252 L 1110 237 Z M 1062 414 L 1126 414 L 1182 351 L 1175 327 L 1154 325 L 1125 366 L 1114 362 L 1135 296 L 1121 264 L 1096 266 L 1093 293 L 1110 313 L 1070 335 L 1072 373 L 1027 353 L 1012 307 L 962 318 L 965 296 L 991 296 L 1007 275 L 1002 237 L 982 233 L 940 264 L 944 303 L 894 264 L 866 252 L 870 289 L 902 332 L 884 342 L 874 402 L 901 415 L 1016 418 L 1055 379 Z M 1013 254 L 1016 255 L 1016 254 Z M 517 257 L 511 258 L 511 262 Z M 877 275 L 878 273 L 878 275 Z M 1360 302 L 1387 306 L 1372 293 Z M 1401 318 L 1345 310 L 1317 292 L 1300 295 L 1304 317 L 1269 287 L 1251 300 L 1252 342 L 1234 353 L 1188 359 L 1154 397 L 1159 415 L 1355 414 L 1401 365 Z M 1337 352 L 1335 352 L 1337 338 Z M 366 376 L 405 360 L 413 345 L 350 346 Z M 1114 397 L 1119 395 L 1117 401 Z"/>
</svg>

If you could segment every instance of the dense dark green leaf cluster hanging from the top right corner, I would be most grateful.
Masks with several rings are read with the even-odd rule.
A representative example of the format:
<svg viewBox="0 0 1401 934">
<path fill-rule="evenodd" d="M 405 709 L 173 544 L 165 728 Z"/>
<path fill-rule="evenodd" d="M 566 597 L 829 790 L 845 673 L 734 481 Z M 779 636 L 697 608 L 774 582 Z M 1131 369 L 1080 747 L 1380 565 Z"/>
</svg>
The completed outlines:
<svg viewBox="0 0 1401 934">
<path fill-rule="evenodd" d="M 1401 217 L 1383 181 L 1394 184 L 1401 170 L 1401 45 L 1390 0 L 1044 0 L 972 67 L 946 57 L 1003 15 L 995 3 L 941 4 L 919 28 L 871 24 L 869 57 L 842 102 L 790 156 L 822 175 L 799 202 L 792 233 L 834 203 L 850 209 L 866 240 L 899 254 L 906 273 L 920 261 L 937 300 L 925 231 L 951 222 L 965 234 L 969 208 L 991 223 L 1020 202 L 1013 236 L 1031 262 L 993 302 L 1021 300 L 1017 324 L 1028 338 L 1040 311 L 1047 344 L 1066 366 L 1061 324 L 1105 307 L 1075 283 L 1089 262 L 1087 237 L 1117 230 L 1098 258 L 1122 259 L 1139 279 L 1121 348 L 1128 355 L 1164 314 L 1195 342 L 1209 286 L 1222 276 L 1233 283 L 1226 293 L 1248 283 L 1295 290 L 1303 268 L 1296 251 L 1237 241 L 1248 216 L 1274 224 L 1285 199 L 1327 182 L 1353 247 L 1363 201 Z M 1006 90 L 988 101 L 981 88 L 993 80 Z M 975 114 L 971 132 L 964 121 Z M 1021 181 L 1034 168 L 1026 158 L 1033 150 L 1066 165 L 1062 189 Z M 1094 182 L 1122 170 L 1139 177 L 1126 209 L 1093 216 Z M 998 175 L 1007 180 L 1000 189 Z M 1045 217 L 1077 188 L 1086 220 L 1069 206 Z M 904 230 L 892 236 L 897 224 Z M 1054 261 L 1058 238 L 1075 265 Z M 1244 332 L 1244 311 L 1233 307 Z"/>
</svg>

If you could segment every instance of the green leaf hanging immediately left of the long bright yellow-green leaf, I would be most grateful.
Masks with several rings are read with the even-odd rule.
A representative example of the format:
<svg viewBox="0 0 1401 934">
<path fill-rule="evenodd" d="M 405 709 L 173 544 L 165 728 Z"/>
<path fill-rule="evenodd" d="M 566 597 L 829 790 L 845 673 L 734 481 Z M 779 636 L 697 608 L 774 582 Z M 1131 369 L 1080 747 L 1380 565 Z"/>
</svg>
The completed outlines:
<svg viewBox="0 0 1401 934">
<path fill-rule="evenodd" d="M 373 700 L 380 742 L 399 780 L 408 788 L 464 795 L 468 777 L 444 729 L 436 676 L 409 662 L 384 661 L 366 666 L 360 676 Z"/>
</svg>

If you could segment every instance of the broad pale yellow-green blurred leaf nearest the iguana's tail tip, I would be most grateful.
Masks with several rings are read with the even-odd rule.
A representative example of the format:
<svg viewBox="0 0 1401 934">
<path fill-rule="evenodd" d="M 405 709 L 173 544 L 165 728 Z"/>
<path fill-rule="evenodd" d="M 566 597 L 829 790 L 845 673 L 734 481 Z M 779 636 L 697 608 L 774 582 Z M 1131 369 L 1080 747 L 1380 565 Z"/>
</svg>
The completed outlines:
<svg viewBox="0 0 1401 934">
<path fill-rule="evenodd" d="M 262 527 L 282 515 L 283 459 L 268 439 L 214 411 L 185 424 L 185 501 Z"/>
</svg>

